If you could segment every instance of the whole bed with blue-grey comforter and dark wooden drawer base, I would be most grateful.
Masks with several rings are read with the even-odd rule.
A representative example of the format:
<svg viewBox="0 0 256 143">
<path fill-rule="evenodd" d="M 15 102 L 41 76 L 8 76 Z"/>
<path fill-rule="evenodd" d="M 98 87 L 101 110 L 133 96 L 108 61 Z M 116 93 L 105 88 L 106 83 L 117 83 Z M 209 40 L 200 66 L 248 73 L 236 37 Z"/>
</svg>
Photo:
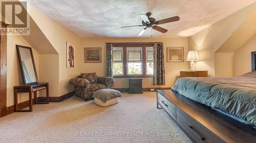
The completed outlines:
<svg viewBox="0 0 256 143">
<path fill-rule="evenodd" d="M 253 142 L 255 67 L 256 52 L 252 52 L 252 72 L 247 74 L 179 78 L 172 90 L 157 90 L 157 108 L 163 109 L 193 142 Z"/>
</svg>

